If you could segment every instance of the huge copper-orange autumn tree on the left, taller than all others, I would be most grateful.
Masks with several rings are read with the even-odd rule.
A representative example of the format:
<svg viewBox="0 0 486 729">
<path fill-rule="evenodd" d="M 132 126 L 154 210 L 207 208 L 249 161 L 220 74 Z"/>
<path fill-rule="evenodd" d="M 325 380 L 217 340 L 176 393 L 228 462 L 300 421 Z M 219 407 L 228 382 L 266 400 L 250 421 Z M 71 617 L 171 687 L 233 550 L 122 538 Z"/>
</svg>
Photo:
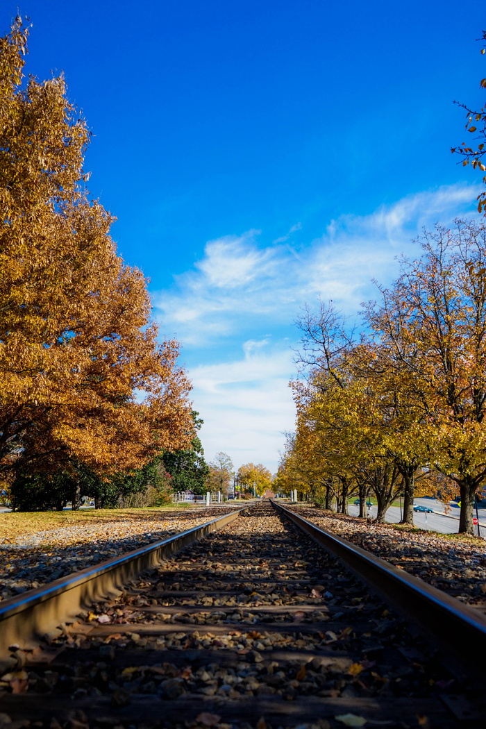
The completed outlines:
<svg viewBox="0 0 486 729">
<path fill-rule="evenodd" d="M 0 39 L 0 470 L 136 469 L 189 444 L 189 381 L 88 199 L 63 78 L 23 86 L 27 34 Z"/>
</svg>

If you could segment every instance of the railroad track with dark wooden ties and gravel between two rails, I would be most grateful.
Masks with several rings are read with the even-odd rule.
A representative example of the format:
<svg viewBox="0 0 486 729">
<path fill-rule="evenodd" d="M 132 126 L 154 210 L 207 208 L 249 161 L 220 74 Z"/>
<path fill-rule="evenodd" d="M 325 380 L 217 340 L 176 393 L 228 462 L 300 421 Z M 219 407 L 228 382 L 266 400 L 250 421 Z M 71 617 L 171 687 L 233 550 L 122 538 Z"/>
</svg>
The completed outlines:
<svg viewBox="0 0 486 729">
<path fill-rule="evenodd" d="M 453 654 L 442 642 L 438 655 L 429 619 L 409 596 L 397 597 L 396 582 L 394 601 L 420 618 L 425 637 L 375 596 L 389 589 L 385 577 L 369 567 L 370 590 L 329 542 L 323 550 L 315 543 L 322 537 L 297 523 L 260 503 L 79 573 L 69 598 L 58 584 L 42 588 L 43 599 L 33 590 L 1 603 L 0 633 L 9 642 L 12 631 L 17 647 L 1 678 L 0 712 L 12 729 L 28 720 L 39 729 L 484 727 L 475 685 L 484 668 L 474 652 L 461 663 L 459 642 Z M 342 541 L 332 549 L 350 559 Z M 350 569 L 364 574 L 356 561 Z M 111 596 L 74 618 L 79 601 L 103 593 Z M 20 603 L 29 600 L 22 618 Z M 34 633 L 63 611 L 61 628 L 35 647 Z M 480 616 L 455 620 L 455 631 L 482 639 Z M 28 624 L 35 630 L 26 632 Z"/>
</svg>

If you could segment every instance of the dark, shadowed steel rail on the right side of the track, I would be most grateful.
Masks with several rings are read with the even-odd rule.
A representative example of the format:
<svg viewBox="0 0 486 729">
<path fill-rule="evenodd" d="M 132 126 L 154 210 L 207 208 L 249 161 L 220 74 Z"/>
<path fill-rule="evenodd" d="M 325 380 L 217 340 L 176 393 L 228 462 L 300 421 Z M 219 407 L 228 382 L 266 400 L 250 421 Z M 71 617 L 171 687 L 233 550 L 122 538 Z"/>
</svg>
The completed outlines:
<svg viewBox="0 0 486 729">
<path fill-rule="evenodd" d="M 478 679 L 486 677 L 486 619 L 477 610 L 348 539 L 316 526 L 282 504 L 273 500 L 272 503 L 315 542 L 340 558 L 360 580 L 365 580 L 399 615 L 415 623 L 432 639 L 444 659 L 452 657 L 469 675 L 472 672 Z"/>
</svg>

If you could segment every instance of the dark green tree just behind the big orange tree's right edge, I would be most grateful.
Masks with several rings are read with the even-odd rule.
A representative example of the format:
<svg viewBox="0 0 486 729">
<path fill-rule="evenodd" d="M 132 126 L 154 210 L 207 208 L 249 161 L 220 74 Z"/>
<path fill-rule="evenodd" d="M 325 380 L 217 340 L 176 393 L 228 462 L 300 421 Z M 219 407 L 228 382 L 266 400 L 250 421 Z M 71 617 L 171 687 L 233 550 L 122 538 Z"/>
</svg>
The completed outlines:
<svg viewBox="0 0 486 729">
<path fill-rule="evenodd" d="M 196 410 L 192 411 L 195 431 L 199 430 L 203 424 L 203 420 L 198 418 L 198 415 Z M 172 477 L 173 491 L 205 493 L 210 471 L 204 459 L 203 445 L 196 434 L 191 440 L 190 448 L 173 452 L 166 451 L 162 456 L 162 461 Z"/>
</svg>

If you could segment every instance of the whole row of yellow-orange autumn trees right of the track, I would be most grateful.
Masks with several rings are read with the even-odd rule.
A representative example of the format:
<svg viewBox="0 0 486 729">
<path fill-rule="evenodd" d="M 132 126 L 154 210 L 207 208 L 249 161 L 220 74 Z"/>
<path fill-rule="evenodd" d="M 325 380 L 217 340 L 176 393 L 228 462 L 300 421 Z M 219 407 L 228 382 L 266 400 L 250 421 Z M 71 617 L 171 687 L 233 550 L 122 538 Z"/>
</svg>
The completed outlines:
<svg viewBox="0 0 486 729">
<path fill-rule="evenodd" d="M 459 531 L 473 533 L 486 479 L 486 228 L 457 221 L 420 241 L 390 288 L 350 326 L 333 303 L 298 321 L 304 378 L 291 383 L 297 428 L 278 482 L 345 511 L 350 496 L 399 495 L 412 523 L 416 489 L 460 495 Z"/>
</svg>

